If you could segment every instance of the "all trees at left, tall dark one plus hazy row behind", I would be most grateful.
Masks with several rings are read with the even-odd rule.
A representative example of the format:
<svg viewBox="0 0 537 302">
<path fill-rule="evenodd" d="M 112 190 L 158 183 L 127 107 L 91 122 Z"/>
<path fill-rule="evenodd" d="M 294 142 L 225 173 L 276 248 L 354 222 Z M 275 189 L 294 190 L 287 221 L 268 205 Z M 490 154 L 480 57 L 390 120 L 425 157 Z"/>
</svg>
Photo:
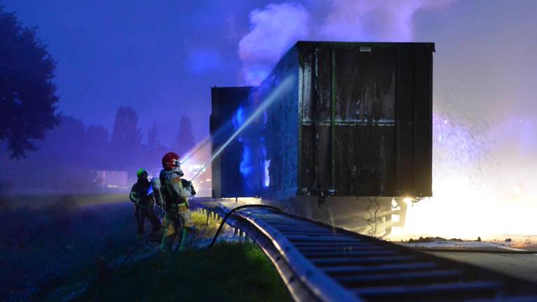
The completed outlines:
<svg viewBox="0 0 537 302">
<path fill-rule="evenodd" d="M 165 146 L 157 140 L 156 124 L 143 140 L 145 131 L 129 107 L 117 109 L 111 134 L 58 113 L 56 61 L 36 29 L 24 27 L 0 4 L 0 192 L 6 187 L 90 191 L 99 186 L 92 171 L 150 168 L 169 150 L 182 154 L 193 147 L 186 116 L 176 140 Z"/>
</svg>

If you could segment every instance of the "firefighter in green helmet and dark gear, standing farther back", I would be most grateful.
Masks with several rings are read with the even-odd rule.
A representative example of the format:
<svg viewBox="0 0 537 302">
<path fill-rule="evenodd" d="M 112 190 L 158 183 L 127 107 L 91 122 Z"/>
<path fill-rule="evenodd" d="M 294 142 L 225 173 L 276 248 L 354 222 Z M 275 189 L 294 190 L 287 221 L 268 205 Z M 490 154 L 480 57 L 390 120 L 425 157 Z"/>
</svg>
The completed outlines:
<svg viewBox="0 0 537 302">
<path fill-rule="evenodd" d="M 138 235 L 145 233 L 145 218 L 151 222 L 151 234 L 155 235 L 160 230 L 161 224 L 159 217 L 155 213 L 155 198 L 153 196 L 151 183 L 148 180 L 148 171 L 141 168 L 136 171 L 138 180 L 132 186 L 129 198 L 135 204 L 134 218 L 138 226 Z"/>
</svg>

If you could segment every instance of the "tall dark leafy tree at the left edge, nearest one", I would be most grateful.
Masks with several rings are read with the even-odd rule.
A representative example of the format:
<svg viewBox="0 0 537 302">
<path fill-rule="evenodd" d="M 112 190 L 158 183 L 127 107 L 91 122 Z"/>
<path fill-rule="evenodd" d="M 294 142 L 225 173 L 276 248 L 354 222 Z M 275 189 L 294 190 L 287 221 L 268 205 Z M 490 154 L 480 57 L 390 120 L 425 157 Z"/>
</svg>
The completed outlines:
<svg viewBox="0 0 537 302">
<path fill-rule="evenodd" d="M 22 27 L 0 6 L 0 140 L 7 141 L 11 158 L 36 150 L 34 140 L 59 122 L 55 68 L 36 27 Z"/>
</svg>

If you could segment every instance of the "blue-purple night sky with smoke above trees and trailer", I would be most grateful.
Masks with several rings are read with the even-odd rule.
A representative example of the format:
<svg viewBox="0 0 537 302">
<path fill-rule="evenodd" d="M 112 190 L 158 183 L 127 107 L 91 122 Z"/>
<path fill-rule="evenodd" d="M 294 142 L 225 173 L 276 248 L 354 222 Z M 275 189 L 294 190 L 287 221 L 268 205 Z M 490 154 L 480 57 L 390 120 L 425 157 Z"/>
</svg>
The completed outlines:
<svg viewBox="0 0 537 302">
<path fill-rule="evenodd" d="M 337 0 L 1 3 L 25 26 L 38 27 L 57 59 L 60 112 L 111 130 L 115 110 L 131 106 L 143 134 L 156 122 L 166 145 L 181 114 L 191 117 L 196 140 L 208 136 L 210 87 L 244 85 L 246 73 L 259 64 L 265 72 L 296 38 L 436 42 L 435 87 L 456 106 L 491 120 L 537 113 L 537 1 L 388 0 L 379 8 Z M 277 37 L 252 34 L 244 45 L 253 41 L 250 52 L 266 55 L 246 50 L 241 59 L 239 43 L 255 29 L 255 9 L 278 23 Z"/>
</svg>

